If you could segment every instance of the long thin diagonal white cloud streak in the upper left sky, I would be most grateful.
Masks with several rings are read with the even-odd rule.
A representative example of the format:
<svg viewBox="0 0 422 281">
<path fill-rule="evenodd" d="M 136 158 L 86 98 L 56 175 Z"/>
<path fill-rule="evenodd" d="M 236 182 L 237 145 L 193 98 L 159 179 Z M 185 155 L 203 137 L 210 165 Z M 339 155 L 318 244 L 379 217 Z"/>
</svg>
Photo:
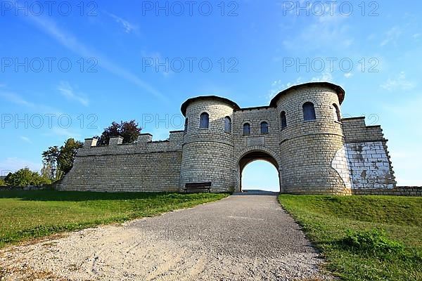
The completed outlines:
<svg viewBox="0 0 422 281">
<path fill-rule="evenodd" d="M 31 15 L 31 13 L 28 14 L 29 16 L 27 18 L 29 18 L 31 22 L 33 22 L 39 28 L 39 30 L 49 34 L 49 36 L 56 39 L 56 41 L 62 44 L 65 48 L 68 48 L 70 51 L 76 53 L 77 55 L 82 55 L 84 58 L 96 58 L 98 65 L 104 69 L 118 77 L 121 77 L 122 79 L 135 84 L 136 86 L 139 86 L 144 91 L 153 94 L 153 96 L 156 96 L 157 98 L 160 98 L 160 100 L 168 102 L 167 97 L 165 97 L 162 93 L 160 93 L 160 91 L 155 89 L 146 81 L 139 79 L 139 77 L 137 77 L 134 73 L 124 69 L 123 67 L 120 67 L 120 65 L 113 63 L 111 60 L 101 55 L 101 53 L 98 53 L 97 51 L 94 51 L 91 48 L 85 46 L 85 44 L 80 42 L 77 37 L 58 28 L 56 22 L 53 20 L 42 16 L 34 16 Z"/>
</svg>

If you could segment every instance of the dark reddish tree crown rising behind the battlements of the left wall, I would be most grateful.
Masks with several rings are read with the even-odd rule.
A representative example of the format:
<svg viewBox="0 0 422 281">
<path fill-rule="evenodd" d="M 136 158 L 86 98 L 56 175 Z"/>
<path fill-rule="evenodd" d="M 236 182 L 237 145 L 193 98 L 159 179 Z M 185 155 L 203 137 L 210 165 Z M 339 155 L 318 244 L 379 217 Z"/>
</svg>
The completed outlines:
<svg viewBox="0 0 422 281">
<path fill-rule="evenodd" d="M 123 143 L 133 143 L 138 138 L 141 133 L 141 128 L 135 120 L 129 122 L 121 121 L 120 124 L 113 122 L 111 126 L 108 126 L 104 129 L 101 136 L 94 136 L 98 139 L 98 145 L 108 145 L 110 138 L 113 136 L 121 136 L 123 138 Z"/>
</svg>

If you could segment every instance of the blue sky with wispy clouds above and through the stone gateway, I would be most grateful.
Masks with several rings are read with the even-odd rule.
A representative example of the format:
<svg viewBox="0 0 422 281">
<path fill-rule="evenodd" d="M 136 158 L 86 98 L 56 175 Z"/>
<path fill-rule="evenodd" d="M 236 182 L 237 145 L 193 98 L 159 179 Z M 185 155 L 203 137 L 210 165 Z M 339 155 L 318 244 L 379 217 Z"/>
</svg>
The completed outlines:
<svg viewBox="0 0 422 281">
<path fill-rule="evenodd" d="M 192 96 L 251 107 L 331 81 L 346 91 L 343 116 L 383 126 L 399 185 L 422 185 L 420 1 L 52 3 L 1 1 L 2 173 L 39 169 L 50 145 L 114 120 L 165 139 Z M 250 165 L 255 187 L 272 168 Z"/>
</svg>

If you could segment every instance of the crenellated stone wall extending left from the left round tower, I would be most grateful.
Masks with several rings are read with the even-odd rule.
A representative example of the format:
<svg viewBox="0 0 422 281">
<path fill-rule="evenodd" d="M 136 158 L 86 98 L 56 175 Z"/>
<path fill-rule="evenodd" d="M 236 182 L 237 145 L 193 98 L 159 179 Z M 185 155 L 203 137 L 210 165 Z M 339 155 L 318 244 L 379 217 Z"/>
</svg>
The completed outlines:
<svg viewBox="0 0 422 281">
<path fill-rule="evenodd" d="M 142 134 L 136 143 L 122 145 L 121 138 L 112 138 L 106 146 L 96 146 L 95 140 L 87 139 L 57 189 L 178 191 L 183 132 L 171 132 L 169 141 L 151 139 L 151 135 Z"/>
</svg>

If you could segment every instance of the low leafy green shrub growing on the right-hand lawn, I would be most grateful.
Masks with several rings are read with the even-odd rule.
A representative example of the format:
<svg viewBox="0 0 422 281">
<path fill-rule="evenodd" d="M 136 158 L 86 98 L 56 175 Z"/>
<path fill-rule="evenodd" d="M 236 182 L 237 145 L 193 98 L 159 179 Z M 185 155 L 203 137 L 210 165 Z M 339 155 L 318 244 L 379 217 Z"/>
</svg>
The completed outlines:
<svg viewBox="0 0 422 281">
<path fill-rule="evenodd" d="M 399 254 L 404 250 L 402 243 L 390 240 L 385 231 L 376 229 L 365 231 L 346 230 L 343 245 L 353 251 L 366 252 L 374 256 Z"/>
</svg>

